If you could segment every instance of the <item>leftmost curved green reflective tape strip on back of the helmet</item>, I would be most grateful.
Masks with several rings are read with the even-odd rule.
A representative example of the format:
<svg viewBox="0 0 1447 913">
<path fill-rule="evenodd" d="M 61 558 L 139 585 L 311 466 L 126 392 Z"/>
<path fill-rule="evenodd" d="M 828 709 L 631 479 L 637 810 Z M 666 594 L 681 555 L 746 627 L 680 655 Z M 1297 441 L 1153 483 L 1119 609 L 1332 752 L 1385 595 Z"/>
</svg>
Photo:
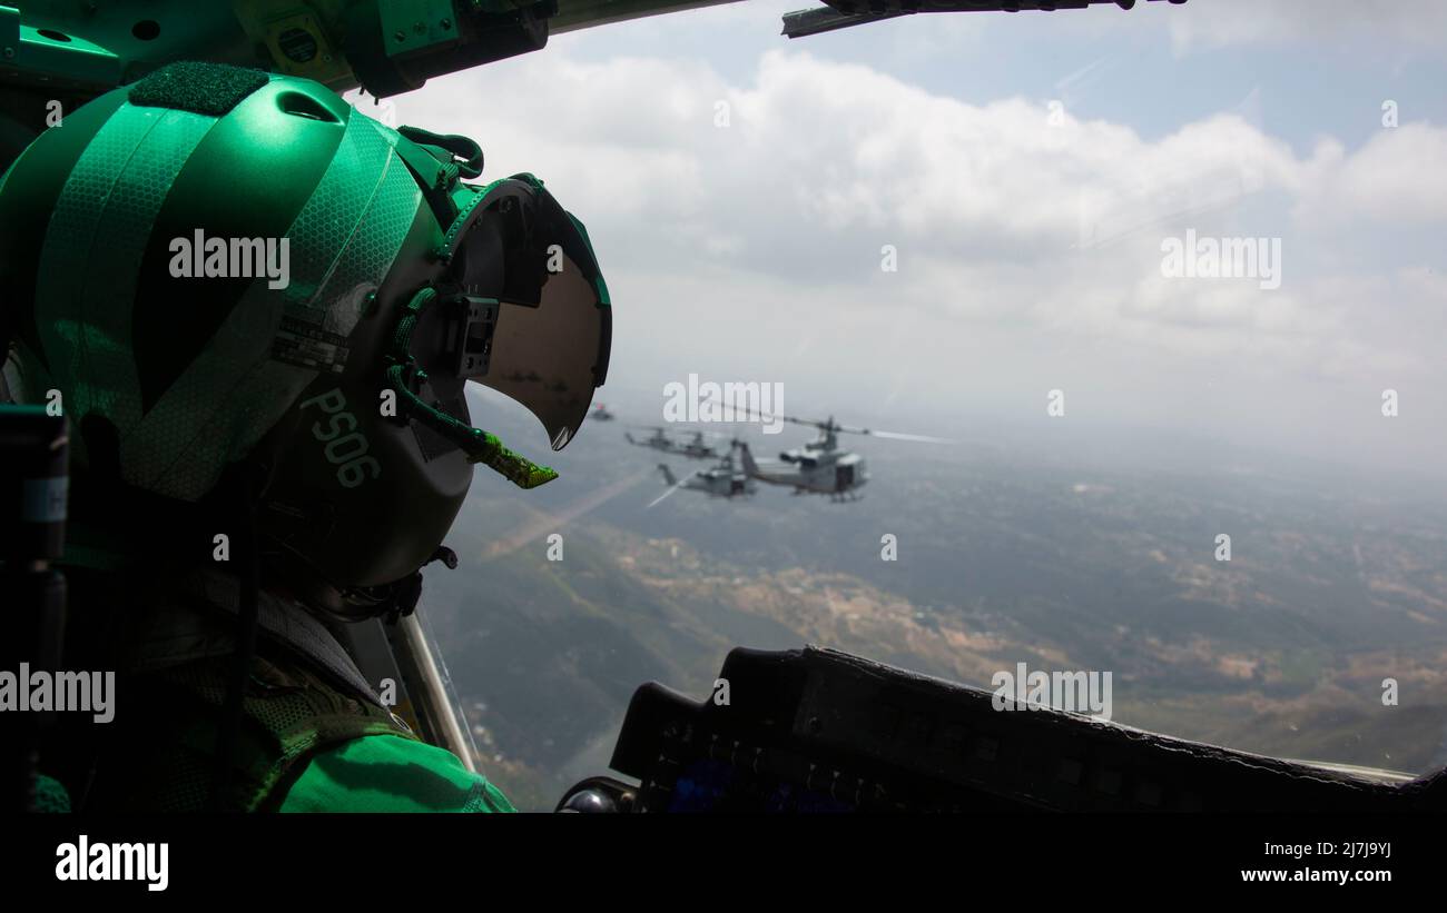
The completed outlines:
<svg viewBox="0 0 1447 913">
<path fill-rule="evenodd" d="M 130 357 L 136 273 L 175 176 L 214 117 L 122 105 L 67 179 L 41 250 L 42 348 L 68 412 L 117 428 L 140 419 Z"/>
</svg>

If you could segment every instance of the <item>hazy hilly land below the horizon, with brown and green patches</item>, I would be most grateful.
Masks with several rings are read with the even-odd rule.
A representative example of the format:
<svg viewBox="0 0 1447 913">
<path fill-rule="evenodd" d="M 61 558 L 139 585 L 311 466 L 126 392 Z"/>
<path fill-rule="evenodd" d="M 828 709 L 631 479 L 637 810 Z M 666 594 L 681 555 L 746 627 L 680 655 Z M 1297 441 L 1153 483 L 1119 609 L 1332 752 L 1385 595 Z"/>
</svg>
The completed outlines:
<svg viewBox="0 0 1447 913">
<path fill-rule="evenodd" d="M 640 683 L 702 698 L 734 646 L 819 643 L 983 688 L 1017 662 L 1110 670 L 1130 725 L 1447 763 L 1447 514 L 1430 498 L 871 442 L 860 503 L 764 490 L 648 509 L 658 461 L 615 426 L 560 456 L 532 493 L 479 475 L 447 540 L 462 566 L 431 572 L 423 598 L 482 766 L 521 806 L 605 771 Z"/>
</svg>

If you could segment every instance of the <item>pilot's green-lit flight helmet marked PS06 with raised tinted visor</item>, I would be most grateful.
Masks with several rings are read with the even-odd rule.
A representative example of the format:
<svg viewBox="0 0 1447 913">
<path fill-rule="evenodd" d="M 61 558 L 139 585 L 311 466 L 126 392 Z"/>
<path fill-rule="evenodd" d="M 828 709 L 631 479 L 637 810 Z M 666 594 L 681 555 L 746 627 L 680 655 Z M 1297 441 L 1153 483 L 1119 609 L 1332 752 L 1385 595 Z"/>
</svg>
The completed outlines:
<svg viewBox="0 0 1447 913">
<path fill-rule="evenodd" d="M 466 381 L 561 449 L 608 370 L 586 230 L 480 168 L 308 79 L 172 64 L 101 95 L 0 178 L 12 396 L 59 396 L 81 481 L 195 504 L 259 467 L 263 545 L 328 607 L 375 604 L 473 464 L 554 477 L 472 426 Z"/>
</svg>

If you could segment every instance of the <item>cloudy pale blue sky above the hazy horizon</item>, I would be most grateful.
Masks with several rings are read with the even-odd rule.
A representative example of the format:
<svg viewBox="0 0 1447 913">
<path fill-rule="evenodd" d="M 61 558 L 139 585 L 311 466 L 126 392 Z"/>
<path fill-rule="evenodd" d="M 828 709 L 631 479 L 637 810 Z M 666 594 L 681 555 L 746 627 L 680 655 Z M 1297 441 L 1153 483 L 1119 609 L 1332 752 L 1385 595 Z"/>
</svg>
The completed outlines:
<svg viewBox="0 0 1447 913">
<path fill-rule="evenodd" d="M 780 36 L 806 6 L 557 35 L 357 104 L 476 139 L 485 179 L 534 172 L 587 225 L 599 399 L 638 419 L 695 373 L 907 432 L 1069 423 L 1447 478 L 1447 0 Z M 1172 273 L 1191 238 L 1269 257 Z"/>
</svg>

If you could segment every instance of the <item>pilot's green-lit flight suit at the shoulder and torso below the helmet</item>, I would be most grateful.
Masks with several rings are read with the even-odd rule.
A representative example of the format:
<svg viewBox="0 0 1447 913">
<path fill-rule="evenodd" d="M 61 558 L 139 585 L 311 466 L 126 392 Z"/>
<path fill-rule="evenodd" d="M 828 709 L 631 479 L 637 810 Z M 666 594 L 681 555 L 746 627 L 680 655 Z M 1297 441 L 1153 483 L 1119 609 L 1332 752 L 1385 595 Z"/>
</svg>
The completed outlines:
<svg viewBox="0 0 1447 913">
<path fill-rule="evenodd" d="M 88 588 L 81 587 L 81 592 Z M 116 728 L 72 805 L 117 813 L 211 810 L 233 669 L 236 579 L 203 571 L 126 610 Z M 226 810 L 512 812 L 508 799 L 385 708 L 300 604 L 262 591 Z M 96 727 L 104 728 L 104 727 Z"/>
</svg>

